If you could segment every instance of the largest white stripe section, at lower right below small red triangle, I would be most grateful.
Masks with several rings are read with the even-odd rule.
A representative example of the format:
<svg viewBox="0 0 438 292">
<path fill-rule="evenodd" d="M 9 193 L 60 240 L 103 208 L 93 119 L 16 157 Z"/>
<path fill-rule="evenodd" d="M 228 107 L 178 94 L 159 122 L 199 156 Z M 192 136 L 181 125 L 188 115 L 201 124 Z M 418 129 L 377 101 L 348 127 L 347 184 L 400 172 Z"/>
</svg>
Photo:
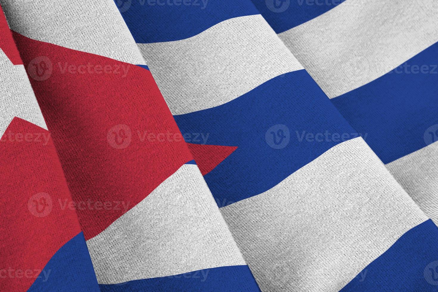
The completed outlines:
<svg viewBox="0 0 438 292">
<path fill-rule="evenodd" d="M 262 291 L 339 291 L 427 220 L 362 138 L 220 210 Z"/>
</svg>

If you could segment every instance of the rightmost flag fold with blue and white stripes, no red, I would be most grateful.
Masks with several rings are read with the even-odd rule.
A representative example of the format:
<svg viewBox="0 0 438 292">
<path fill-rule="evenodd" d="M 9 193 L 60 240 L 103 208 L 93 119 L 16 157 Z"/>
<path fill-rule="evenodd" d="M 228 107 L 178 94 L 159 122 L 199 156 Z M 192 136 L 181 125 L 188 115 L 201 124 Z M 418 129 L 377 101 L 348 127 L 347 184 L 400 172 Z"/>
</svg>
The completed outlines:
<svg viewBox="0 0 438 292">
<path fill-rule="evenodd" d="M 438 1 L 278 2 L 282 11 L 254 4 L 339 112 L 367 133 L 367 144 L 400 185 L 438 222 Z"/>
</svg>

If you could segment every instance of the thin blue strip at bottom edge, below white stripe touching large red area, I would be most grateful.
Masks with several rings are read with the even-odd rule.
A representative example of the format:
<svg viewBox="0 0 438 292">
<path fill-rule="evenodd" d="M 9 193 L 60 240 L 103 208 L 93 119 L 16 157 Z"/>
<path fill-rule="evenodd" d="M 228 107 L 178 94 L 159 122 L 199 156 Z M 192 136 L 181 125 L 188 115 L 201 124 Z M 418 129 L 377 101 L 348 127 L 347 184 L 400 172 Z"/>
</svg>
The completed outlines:
<svg viewBox="0 0 438 292">
<path fill-rule="evenodd" d="M 102 292 L 115 291 L 260 291 L 248 266 L 215 267 L 189 273 L 100 285 Z"/>
</svg>

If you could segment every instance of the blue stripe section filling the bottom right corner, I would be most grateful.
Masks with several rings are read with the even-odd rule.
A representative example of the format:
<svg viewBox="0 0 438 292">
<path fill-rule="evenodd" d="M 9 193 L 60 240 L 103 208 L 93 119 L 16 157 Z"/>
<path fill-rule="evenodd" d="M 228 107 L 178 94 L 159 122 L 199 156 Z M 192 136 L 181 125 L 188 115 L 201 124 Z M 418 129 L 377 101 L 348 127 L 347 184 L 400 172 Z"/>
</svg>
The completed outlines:
<svg viewBox="0 0 438 292">
<path fill-rule="evenodd" d="M 438 291 L 438 229 L 427 220 L 403 234 L 341 291 Z"/>
</svg>

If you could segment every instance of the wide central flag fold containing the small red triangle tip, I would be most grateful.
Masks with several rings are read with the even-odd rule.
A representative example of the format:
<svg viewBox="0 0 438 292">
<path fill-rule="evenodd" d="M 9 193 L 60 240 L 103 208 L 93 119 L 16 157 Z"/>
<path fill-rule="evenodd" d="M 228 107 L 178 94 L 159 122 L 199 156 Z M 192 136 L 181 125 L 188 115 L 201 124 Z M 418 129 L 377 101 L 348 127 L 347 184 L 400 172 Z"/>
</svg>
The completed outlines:
<svg viewBox="0 0 438 292">
<path fill-rule="evenodd" d="M 436 227 L 251 1 L 119 8 L 263 291 L 434 288 Z"/>
</svg>

